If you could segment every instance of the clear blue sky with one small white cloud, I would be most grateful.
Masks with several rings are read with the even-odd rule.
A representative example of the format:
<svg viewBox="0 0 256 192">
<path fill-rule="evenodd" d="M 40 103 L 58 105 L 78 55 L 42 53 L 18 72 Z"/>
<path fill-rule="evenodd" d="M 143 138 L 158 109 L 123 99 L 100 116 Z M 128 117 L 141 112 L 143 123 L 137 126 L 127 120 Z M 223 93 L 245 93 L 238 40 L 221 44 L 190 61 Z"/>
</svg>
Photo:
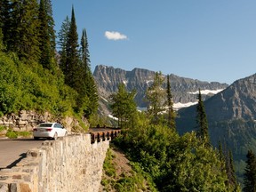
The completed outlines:
<svg viewBox="0 0 256 192">
<path fill-rule="evenodd" d="M 52 0 L 56 32 L 72 5 L 96 65 L 232 84 L 256 73 L 255 0 Z"/>
</svg>

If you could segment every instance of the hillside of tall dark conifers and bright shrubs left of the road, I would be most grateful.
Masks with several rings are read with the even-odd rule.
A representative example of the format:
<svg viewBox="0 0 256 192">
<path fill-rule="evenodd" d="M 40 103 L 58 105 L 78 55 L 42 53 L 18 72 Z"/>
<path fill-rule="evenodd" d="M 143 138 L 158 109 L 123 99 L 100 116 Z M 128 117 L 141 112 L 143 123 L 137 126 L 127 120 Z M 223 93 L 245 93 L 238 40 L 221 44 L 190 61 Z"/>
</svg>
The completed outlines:
<svg viewBox="0 0 256 192">
<path fill-rule="evenodd" d="M 70 12 L 58 32 L 57 53 L 51 0 L 0 1 L 1 115 L 33 109 L 90 117 L 97 111 L 86 31 L 78 44 Z"/>
</svg>

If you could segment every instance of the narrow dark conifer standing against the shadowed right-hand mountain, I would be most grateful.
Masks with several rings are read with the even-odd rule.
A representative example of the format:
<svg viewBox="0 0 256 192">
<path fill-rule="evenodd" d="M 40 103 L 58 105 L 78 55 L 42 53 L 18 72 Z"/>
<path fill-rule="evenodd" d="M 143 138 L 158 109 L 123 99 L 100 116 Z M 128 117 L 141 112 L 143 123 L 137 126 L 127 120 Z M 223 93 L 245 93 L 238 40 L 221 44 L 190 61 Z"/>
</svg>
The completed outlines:
<svg viewBox="0 0 256 192">
<path fill-rule="evenodd" d="M 197 135 L 203 142 L 210 144 L 210 139 L 208 134 L 208 122 L 207 122 L 207 117 L 204 110 L 204 102 L 202 100 L 200 89 L 199 89 L 199 94 L 197 99 L 198 99 L 198 104 L 196 106 L 196 112 L 197 112 L 196 124 L 199 128 Z"/>
</svg>

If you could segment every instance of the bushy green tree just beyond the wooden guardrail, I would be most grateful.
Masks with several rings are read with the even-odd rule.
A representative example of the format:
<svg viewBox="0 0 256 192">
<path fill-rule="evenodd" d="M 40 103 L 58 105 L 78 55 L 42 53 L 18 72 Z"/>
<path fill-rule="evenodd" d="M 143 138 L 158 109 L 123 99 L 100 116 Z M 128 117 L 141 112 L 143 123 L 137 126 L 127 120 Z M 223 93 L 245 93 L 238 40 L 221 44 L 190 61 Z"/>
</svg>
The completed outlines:
<svg viewBox="0 0 256 192">
<path fill-rule="evenodd" d="M 134 101 L 135 91 L 127 92 L 124 84 L 118 85 L 118 92 L 110 95 L 110 108 L 113 116 L 118 118 L 118 126 L 124 128 L 136 114 L 136 103 Z"/>
</svg>

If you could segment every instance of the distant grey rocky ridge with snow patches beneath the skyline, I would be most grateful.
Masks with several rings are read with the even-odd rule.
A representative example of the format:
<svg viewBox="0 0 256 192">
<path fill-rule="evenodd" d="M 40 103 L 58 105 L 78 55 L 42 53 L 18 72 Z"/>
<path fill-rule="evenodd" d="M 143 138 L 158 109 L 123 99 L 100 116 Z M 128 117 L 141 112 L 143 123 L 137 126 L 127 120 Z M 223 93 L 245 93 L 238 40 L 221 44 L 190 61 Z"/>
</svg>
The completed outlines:
<svg viewBox="0 0 256 192">
<path fill-rule="evenodd" d="M 137 94 L 135 101 L 140 108 L 147 107 L 145 102 L 145 92 L 155 76 L 154 71 L 150 71 L 143 68 L 134 68 L 132 71 L 125 71 L 121 68 L 113 68 L 107 66 L 97 66 L 94 70 L 93 76 L 96 84 L 98 85 L 98 91 L 100 94 L 100 110 L 103 114 L 108 115 L 109 110 L 106 107 L 108 105 L 108 97 L 111 93 L 117 92 L 118 84 L 126 84 L 128 91 L 136 90 Z M 164 76 L 164 82 L 166 85 L 166 76 Z M 180 76 L 170 75 L 170 84 L 172 89 L 172 98 L 174 103 L 188 103 L 196 102 L 196 91 L 201 90 L 223 90 L 228 87 L 228 84 L 220 84 L 218 82 L 203 82 L 195 79 L 184 78 Z M 212 96 L 212 93 L 205 94 L 204 99 Z"/>
</svg>

